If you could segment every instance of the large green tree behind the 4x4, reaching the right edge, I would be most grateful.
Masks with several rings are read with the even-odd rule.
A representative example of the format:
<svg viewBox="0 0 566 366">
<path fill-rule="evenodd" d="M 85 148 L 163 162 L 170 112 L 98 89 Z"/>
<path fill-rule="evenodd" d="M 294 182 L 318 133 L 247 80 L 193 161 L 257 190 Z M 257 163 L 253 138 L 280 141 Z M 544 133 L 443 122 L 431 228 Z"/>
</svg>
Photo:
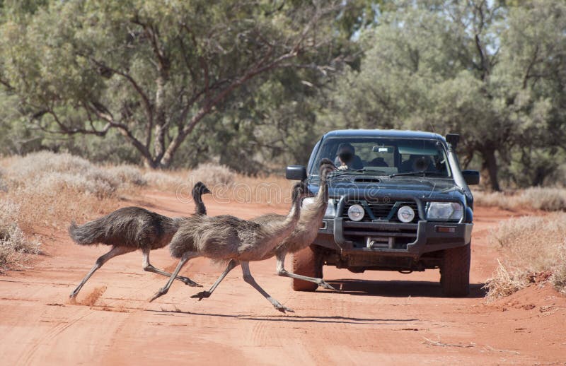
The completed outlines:
<svg viewBox="0 0 566 366">
<path fill-rule="evenodd" d="M 460 133 L 464 165 L 478 155 L 499 190 L 501 163 L 517 155 L 527 163 L 526 146 L 559 146 L 565 10 L 558 0 L 511 8 L 474 0 L 387 13 L 362 36 L 360 71 L 345 73 L 330 95 L 328 126 Z"/>
</svg>

